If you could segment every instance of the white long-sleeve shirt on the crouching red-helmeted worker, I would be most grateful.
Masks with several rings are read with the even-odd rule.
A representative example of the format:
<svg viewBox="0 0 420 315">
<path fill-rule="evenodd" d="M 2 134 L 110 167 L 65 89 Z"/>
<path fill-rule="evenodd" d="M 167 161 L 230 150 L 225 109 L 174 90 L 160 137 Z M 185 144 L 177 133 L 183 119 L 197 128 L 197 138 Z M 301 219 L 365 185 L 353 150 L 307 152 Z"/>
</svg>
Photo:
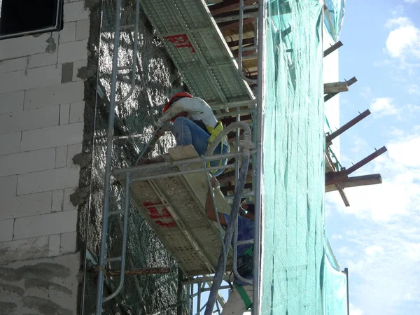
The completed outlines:
<svg viewBox="0 0 420 315">
<path fill-rule="evenodd" d="M 169 106 L 165 114 L 159 118 L 156 126 L 162 127 L 167 121 L 183 111 L 188 112 L 187 118 L 190 120 L 202 120 L 204 125 L 210 127 L 215 127 L 217 124 L 217 119 L 213 111 L 211 111 L 211 107 L 204 102 L 204 99 L 200 99 L 200 97 L 183 97 Z"/>
</svg>

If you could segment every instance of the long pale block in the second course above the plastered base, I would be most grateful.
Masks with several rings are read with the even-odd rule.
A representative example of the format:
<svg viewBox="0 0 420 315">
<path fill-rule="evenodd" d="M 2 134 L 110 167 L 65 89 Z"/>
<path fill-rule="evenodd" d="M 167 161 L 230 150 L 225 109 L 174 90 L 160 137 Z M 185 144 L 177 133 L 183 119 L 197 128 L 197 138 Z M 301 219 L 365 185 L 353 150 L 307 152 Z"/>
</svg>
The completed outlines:
<svg viewBox="0 0 420 315">
<path fill-rule="evenodd" d="M 61 211 L 15 219 L 13 237 L 14 239 L 27 239 L 30 237 L 55 235 L 76 232 L 76 228 L 77 211 Z"/>
</svg>

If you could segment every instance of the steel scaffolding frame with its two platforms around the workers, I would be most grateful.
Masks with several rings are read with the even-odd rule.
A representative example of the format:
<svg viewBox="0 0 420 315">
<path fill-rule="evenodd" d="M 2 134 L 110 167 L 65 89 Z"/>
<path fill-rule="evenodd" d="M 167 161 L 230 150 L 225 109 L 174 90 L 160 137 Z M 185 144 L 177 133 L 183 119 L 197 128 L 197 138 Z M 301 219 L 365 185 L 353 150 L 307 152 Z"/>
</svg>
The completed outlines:
<svg viewBox="0 0 420 315">
<path fill-rule="evenodd" d="M 253 314 L 258 314 L 258 298 L 259 298 L 259 264 L 260 264 L 260 188 L 261 188 L 261 141 L 262 141 L 262 115 L 263 115 L 263 93 L 264 93 L 264 82 L 263 82 L 263 71 L 264 71 L 264 41 L 258 40 L 258 38 L 264 38 L 265 32 L 265 1 L 260 0 L 258 4 L 251 6 L 244 6 L 244 1 L 239 1 L 239 57 L 238 62 L 232 55 L 230 48 L 228 47 L 225 39 L 223 38 L 221 31 L 216 25 L 214 18 L 212 17 L 207 3 L 204 1 L 193 1 L 193 0 L 159 0 L 159 1 L 147 1 L 137 0 L 136 1 L 136 21 L 134 25 L 134 54 L 133 62 L 131 66 L 132 70 L 132 86 L 130 91 L 120 100 L 116 99 L 116 83 L 118 71 L 126 70 L 127 66 L 118 66 L 118 49 L 120 41 L 120 16 L 121 16 L 121 0 L 116 1 L 116 25 L 115 25 L 115 36 L 113 41 L 113 66 L 111 76 L 111 95 L 110 95 L 110 106 L 109 106 L 109 122 L 107 131 L 106 141 L 106 168 L 105 168 L 105 188 L 104 188 L 104 203 L 102 213 L 102 237 L 101 237 L 101 251 L 99 255 L 99 262 L 97 264 L 97 306 L 96 314 L 102 314 L 102 304 L 106 301 L 116 297 L 120 290 L 123 288 L 125 270 L 125 255 L 127 248 L 127 217 L 128 208 L 130 202 L 130 195 L 137 201 L 139 209 L 144 209 L 146 212 L 145 218 L 147 218 L 148 209 L 153 211 L 167 211 L 171 217 L 172 235 L 163 235 L 158 232 L 160 239 L 167 245 L 169 251 L 174 255 L 174 258 L 179 262 L 179 267 L 183 272 L 183 275 L 187 277 L 185 280 L 188 281 L 199 281 L 201 283 L 207 283 L 210 286 L 211 281 L 209 280 L 209 274 L 215 272 L 217 267 L 217 260 L 214 259 L 215 253 L 220 251 L 221 244 L 217 241 L 211 248 L 209 244 L 200 244 L 197 239 L 203 236 L 202 230 L 198 229 L 196 233 L 194 229 L 190 228 L 191 222 L 186 222 L 184 218 L 186 216 L 180 215 L 181 211 L 176 209 L 177 202 L 181 200 L 173 200 L 174 195 L 169 194 L 169 188 L 162 186 L 160 179 L 165 178 L 166 181 L 172 181 L 173 184 L 178 187 L 183 187 L 187 191 L 186 195 L 195 200 L 191 203 L 198 205 L 201 200 L 197 200 L 197 191 L 191 191 L 193 186 L 192 178 L 197 182 L 197 177 L 201 176 L 204 181 L 209 182 L 209 171 L 214 169 L 235 169 L 235 179 L 239 180 L 239 172 L 241 170 L 240 160 L 244 160 L 246 156 L 251 154 L 253 172 L 252 186 L 251 189 L 247 189 L 243 197 L 247 197 L 248 200 L 252 200 L 255 204 L 255 234 L 253 242 L 253 264 L 254 264 L 254 276 L 253 276 Z M 213 150 L 209 150 L 205 156 L 195 157 L 197 153 L 194 150 L 188 150 L 186 147 L 177 147 L 170 152 L 172 161 L 160 163 L 158 165 L 145 166 L 145 167 L 130 167 L 125 169 L 113 169 L 112 166 L 112 150 L 113 150 L 113 126 L 114 116 L 117 104 L 123 104 L 134 90 L 135 76 L 136 76 L 136 52 L 138 47 L 139 38 L 139 10 L 140 5 L 151 20 L 153 27 L 155 28 L 156 34 L 160 37 L 165 48 L 172 57 L 174 64 L 179 69 L 183 81 L 188 86 L 189 90 L 198 97 L 202 97 L 209 102 L 209 105 L 214 110 L 217 118 L 229 118 L 234 116 L 235 120 L 240 123 L 241 117 L 251 114 L 251 129 L 247 123 L 243 123 L 245 127 L 244 134 L 241 134 L 237 127 L 235 146 L 237 148 L 236 153 L 228 153 L 221 155 L 212 155 Z M 190 8 L 194 8 L 191 10 Z M 251 46 L 243 47 L 243 31 L 244 31 L 244 18 L 248 15 L 244 14 L 245 10 L 253 10 L 255 16 L 255 36 L 254 43 Z M 238 20 L 237 19 L 237 20 Z M 253 56 L 258 57 L 258 79 L 249 78 L 244 76 L 242 68 L 242 54 L 244 52 L 253 51 Z M 257 91 L 257 97 L 254 97 L 251 87 L 248 85 L 251 83 L 254 85 Z M 230 112 L 231 109 L 235 109 L 235 113 Z M 248 129 L 248 131 L 246 131 Z M 252 130 L 252 137 L 251 137 Z M 251 145 L 241 141 L 241 137 L 246 137 L 253 140 L 254 149 L 249 151 Z M 217 139 L 216 139 L 217 141 Z M 215 143 L 216 143 L 215 141 Z M 246 142 L 246 141 L 245 141 Z M 217 144 L 217 143 L 216 143 Z M 215 146 L 214 146 L 215 147 Z M 194 154 L 195 153 L 195 154 Z M 195 156 L 194 156 L 195 155 Z M 234 158 L 235 162 L 225 166 L 218 167 L 207 167 L 207 162 L 211 160 L 221 160 L 223 158 Z M 242 173 L 245 175 L 248 167 L 245 170 L 242 169 Z M 145 172 L 146 173 L 145 175 Z M 207 174 L 207 176 L 206 176 Z M 125 186 L 125 206 L 123 211 L 110 211 L 110 193 L 111 193 L 111 177 L 115 176 L 120 183 Z M 206 180 L 207 177 L 207 180 Z M 169 180 L 170 179 L 170 180 Z M 188 183 L 188 181 L 190 181 Z M 235 185 L 237 182 L 235 181 Z M 209 186 L 207 186 L 209 187 Z M 207 188 L 208 190 L 209 188 Z M 141 200 L 142 193 L 148 191 L 149 194 L 155 194 L 155 199 L 160 202 L 154 204 L 145 204 L 145 200 Z M 202 193 L 202 192 L 201 192 Z M 220 192 L 219 192 L 220 193 Z M 235 191 L 235 195 L 237 192 Z M 240 197 L 241 191 L 239 191 Z M 150 195 L 148 195 L 150 197 Z M 216 198 L 213 196 L 216 204 Z M 223 195 L 219 195 L 219 200 L 223 200 L 226 203 Z M 237 200 L 237 199 L 236 199 Z M 239 198 L 240 200 L 240 198 Z M 239 201 L 237 201 L 237 207 L 239 207 Z M 235 203 L 235 202 L 234 202 Z M 217 205 L 220 207 L 220 202 Z M 216 211 L 217 211 L 216 207 Z M 121 248 L 121 254 L 117 257 L 106 258 L 106 244 L 108 238 L 108 222 L 110 216 L 117 214 L 123 215 L 123 246 Z M 150 212 L 149 212 L 150 214 Z M 200 214 L 200 211 L 197 211 Z M 202 214 L 202 209 L 201 209 Z M 150 216 L 149 216 L 150 217 Z M 153 220 L 148 221 L 153 226 Z M 154 222 L 156 223 L 156 221 Z M 208 222 L 204 218 L 202 223 L 205 225 Z M 165 225 L 167 227 L 167 225 Z M 204 229 L 206 230 L 206 229 Z M 208 230 L 208 229 L 207 229 Z M 159 227 L 155 226 L 155 231 L 159 231 Z M 210 227 L 209 231 L 213 231 L 214 235 L 218 235 L 220 229 L 217 227 Z M 170 239 L 183 235 L 185 237 L 182 242 L 182 246 L 172 246 Z M 211 236 L 211 235 L 210 235 Z M 165 241 L 165 239 L 167 241 Z M 223 241 L 223 240 L 222 240 Z M 230 242 L 229 242 L 230 243 Z M 228 246 L 229 246 L 228 243 Z M 234 240 L 234 248 L 237 241 Z M 181 251 L 177 248 L 183 248 Z M 189 254 L 189 260 L 186 259 L 186 252 Z M 199 259 L 192 258 L 191 253 L 198 254 Z M 226 253 L 226 251 L 225 251 Z M 231 269 L 234 269 L 235 274 L 239 276 L 236 270 L 236 251 L 233 251 L 233 258 L 228 258 L 228 265 Z M 217 255 L 216 255 L 217 257 Z M 113 292 L 104 297 L 104 278 L 106 275 L 106 264 L 109 262 L 120 261 L 120 281 L 118 286 Z M 198 266 L 198 267 L 197 267 Z M 195 276 L 204 276 L 203 279 L 194 279 Z M 199 292 L 197 296 L 200 299 L 200 295 L 205 291 L 203 285 L 199 286 Z M 222 287 L 223 288 L 223 287 Z M 190 298 L 195 295 L 192 293 Z M 181 301 L 179 301 L 180 303 Z M 220 313 L 221 307 L 223 307 L 224 300 L 221 295 L 218 295 L 216 300 L 217 311 Z M 199 302 L 200 305 L 200 302 Z M 200 309 L 197 310 L 200 313 Z"/>
</svg>

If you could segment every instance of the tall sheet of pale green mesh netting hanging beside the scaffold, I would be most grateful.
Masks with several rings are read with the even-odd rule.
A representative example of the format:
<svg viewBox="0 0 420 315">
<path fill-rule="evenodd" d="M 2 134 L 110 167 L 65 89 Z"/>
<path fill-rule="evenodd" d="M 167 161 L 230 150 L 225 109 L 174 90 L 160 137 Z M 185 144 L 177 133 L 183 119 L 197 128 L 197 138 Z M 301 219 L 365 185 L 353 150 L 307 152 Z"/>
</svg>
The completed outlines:
<svg viewBox="0 0 420 315">
<path fill-rule="evenodd" d="M 268 1 L 261 314 L 324 314 L 322 6 Z"/>
</svg>

